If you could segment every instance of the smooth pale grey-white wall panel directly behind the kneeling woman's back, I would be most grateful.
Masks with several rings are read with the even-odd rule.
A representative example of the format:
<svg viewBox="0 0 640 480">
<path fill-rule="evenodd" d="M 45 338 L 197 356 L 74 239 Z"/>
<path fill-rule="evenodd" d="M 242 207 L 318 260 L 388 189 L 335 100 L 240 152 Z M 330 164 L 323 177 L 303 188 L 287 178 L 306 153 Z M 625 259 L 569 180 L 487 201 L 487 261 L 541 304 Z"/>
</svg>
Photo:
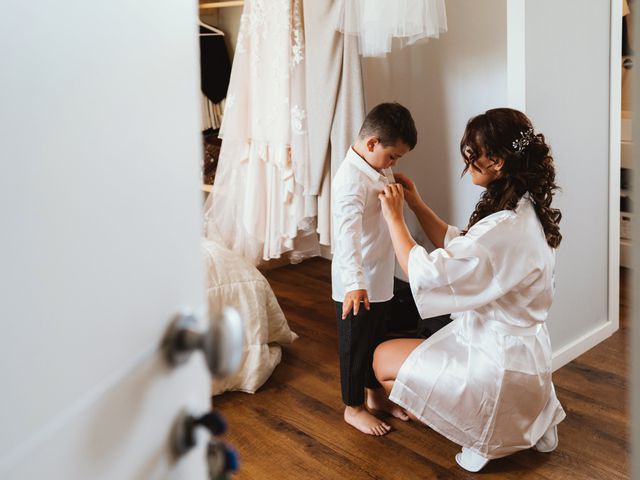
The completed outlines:
<svg viewBox="0 0 640 480">
<path fill-rule="evenodd" d="M 552 146 L 563 189 L 548 323 L 554 351 L 569 355 L 557 367 L 581 353 L 581 338 L 600 340 L 609 316 L 611 1 L 585 8 L 582 0 L 528 0 L 525 7 L 526 110 Z"/>
</svg>

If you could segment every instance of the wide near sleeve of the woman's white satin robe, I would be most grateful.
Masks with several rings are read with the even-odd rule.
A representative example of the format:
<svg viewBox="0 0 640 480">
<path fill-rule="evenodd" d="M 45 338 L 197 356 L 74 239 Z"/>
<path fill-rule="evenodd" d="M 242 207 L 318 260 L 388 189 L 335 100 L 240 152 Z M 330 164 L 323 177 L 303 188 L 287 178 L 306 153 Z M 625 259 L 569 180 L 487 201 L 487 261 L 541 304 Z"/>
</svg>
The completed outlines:
<svg viewBox="0 0 640 480">
<path fill-rule="evenodd" d="M 422 318 L 475 310 L 500 298 L 530 276 L 535 258 L 510 231 L 509 221 L 483 232 L 448 238 L 431 253 L 416 245 L 409 253 L 409 283 Z M 471 232 L 470 232 L 471 233 Z"/>
</svg>

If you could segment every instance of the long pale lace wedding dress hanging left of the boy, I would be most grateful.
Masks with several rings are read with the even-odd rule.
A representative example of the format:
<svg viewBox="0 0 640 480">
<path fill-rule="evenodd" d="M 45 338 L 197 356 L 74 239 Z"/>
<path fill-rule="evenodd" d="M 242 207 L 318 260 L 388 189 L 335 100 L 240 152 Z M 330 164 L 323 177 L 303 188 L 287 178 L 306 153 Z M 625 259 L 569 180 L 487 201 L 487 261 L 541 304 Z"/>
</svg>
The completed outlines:
<svg viewBox="0 0 640 480">
<path fill-rule="evenodd" d="M 319 254 L 301 0 L 246 0 L 204 233 L 258 264 Z"/>
</svg>

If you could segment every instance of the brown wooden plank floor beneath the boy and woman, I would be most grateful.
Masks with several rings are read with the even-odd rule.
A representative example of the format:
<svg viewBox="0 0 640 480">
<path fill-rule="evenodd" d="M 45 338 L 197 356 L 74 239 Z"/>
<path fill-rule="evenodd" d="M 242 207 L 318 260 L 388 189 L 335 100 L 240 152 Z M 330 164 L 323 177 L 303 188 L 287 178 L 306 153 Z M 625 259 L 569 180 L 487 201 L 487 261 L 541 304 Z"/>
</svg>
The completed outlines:
<svg viewBox="0 0 640 480">
<path fill-rule="evenodd" d="M 422 424 L 390 419 L 393 431 L 374 438 L 344 423 L 328 261 L 278 268 L 267 278 L 300 338 L 284 348 L 282 363 L 255 395 L 214 397 L 229 423 L 224 438 L 240 454 L 234 478 L 629 478 L 626 295 L 620 330 L 554 374 L 567 412 L 558 449 L 524 451 L 471 474 L 455 463 L 459 447 Z"/>
</svg>

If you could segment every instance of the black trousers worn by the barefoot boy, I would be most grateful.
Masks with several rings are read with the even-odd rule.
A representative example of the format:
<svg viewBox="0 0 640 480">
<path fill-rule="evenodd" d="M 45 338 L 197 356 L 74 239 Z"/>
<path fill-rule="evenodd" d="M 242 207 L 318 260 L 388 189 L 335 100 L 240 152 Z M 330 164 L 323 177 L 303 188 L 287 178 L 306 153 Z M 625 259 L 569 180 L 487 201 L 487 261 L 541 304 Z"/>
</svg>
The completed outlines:
<svg viewBox="0 0 640 480">
<path fill-rule="evenodd" d="M 385 340 L 391 301 L 371 303 L 370 310 L 360 304 L 342 319 L 342 302 L 336 303 L 338 349 L 340 353 L 340 387 L 345 405 L 364 403 L 364 389 L 378 388 L 373 374 L 373 351 Z"/>
</svg>

